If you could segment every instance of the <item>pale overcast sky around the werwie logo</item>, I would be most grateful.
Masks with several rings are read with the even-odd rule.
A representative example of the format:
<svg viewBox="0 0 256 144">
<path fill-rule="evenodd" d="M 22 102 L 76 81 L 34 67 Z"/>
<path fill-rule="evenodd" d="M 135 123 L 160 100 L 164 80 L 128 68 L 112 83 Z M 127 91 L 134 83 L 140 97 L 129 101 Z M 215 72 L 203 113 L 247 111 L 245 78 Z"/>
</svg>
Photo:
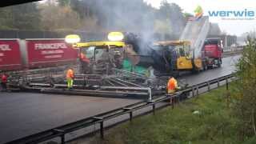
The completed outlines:
<svg viewBox="0 0 256 144">
<path fill-rule="evenodd" d="M 159 7 L 161 0 L 144 0 L 154 7 Z M 194 9 L 199 5 L 204 10 L 204 15 L 212 10 L 254 10 L 256 15 L 256 0 L 167 0 L 178 4 L 183 12 L 194 14 Z M 210 18 L 210 22 L 218 22 L 222 30 L 228 34 L 237 34 L 256 30 L 256 18 L 254 20 L 222 20 L 222 18 Z"/>
</svg>

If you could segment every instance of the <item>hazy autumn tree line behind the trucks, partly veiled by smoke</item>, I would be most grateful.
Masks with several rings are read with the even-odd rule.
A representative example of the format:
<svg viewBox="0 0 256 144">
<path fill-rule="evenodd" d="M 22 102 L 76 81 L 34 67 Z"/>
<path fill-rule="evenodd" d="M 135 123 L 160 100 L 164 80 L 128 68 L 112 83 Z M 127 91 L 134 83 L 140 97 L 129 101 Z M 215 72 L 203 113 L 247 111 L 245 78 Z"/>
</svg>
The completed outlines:
<svg viewBox="0 0 256 144">
<path fill-rule="evenodd" d="M 143 0 L 48 0 L 0 9 L 1 30 L 158 31 L 181 33 L 182 9 L 163 0 L 159 9 Z"/>
</svg>

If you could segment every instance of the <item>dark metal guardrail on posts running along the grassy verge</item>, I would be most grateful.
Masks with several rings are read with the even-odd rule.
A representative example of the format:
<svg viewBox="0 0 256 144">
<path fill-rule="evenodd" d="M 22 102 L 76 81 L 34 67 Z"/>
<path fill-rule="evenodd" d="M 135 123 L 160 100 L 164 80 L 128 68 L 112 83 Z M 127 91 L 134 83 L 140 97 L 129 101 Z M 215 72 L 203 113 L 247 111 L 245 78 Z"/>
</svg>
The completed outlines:
<svg viewBox="0 0 256 144">
<path fill-rule="evenodd" d="M 74 132 L 75 130 L 80 130 L 80 129 L 83 129 L 83 128 L 86 128 L 89 126 L 94 126 L 95 124 L 100 124 L 99 131 L 101 134 L 101 138 L 104 138 L 104 128 L 107 127 L 107 126 L 104 126 L 104 122 L 106 122 L 107 120 L 117 118 L 118 116 L 122 116 L 123 114 L 130 114 L 130 118 L 127 118 L 126 120 L 130 119 L 130 121 L 131 121 L 132 118 L 134 117 L 134 115 L 133 115 L 134 111 L 141 110 L 142 108 L 145 108 L 148 106 L 152 106 L 151 111 L 153 111 L 153 113 L 154 113 L 156 110 L 156 104 L 160 103 L 160 102 L 170 101 L 170 102 L 167 102 L 166 106 L 173 106 L 173 108 L 174 108 L 174 103 L 179 101 L 182 94 L 192 92 L 192 97 L 194 97 L 199 94 L 199 89 L 207 87 L 207 90 L 211 90 L 210 86 L 212 84 L 217 83 L 218 86 L 220 86 L 220 82 L 223 82 L 223 81 L 226 82 L 226 89 L 228 90 L 229 79 L 233 78 L 233 77 L 234 77 L 234 74 L 229 74 L 229 75 L 226 75 L 226 76 L 223 76 L 220 78 L 214 78 L 210 81 L 202 82 L 197 85 L 190 86 L 186 90 L 182 90 L 178 93 L 167 94 L 164 98 L 156 98 L 156 99 L 146 101 L 146 102 L 137 102 L 137 103 L 131 104 L 129 106 L 123 106 L 116 110 L 110 110 L 106 113 L 97 114 L 90 118 L 84 118 L 77 122 L 71 122 L 64 126 L 58 126 L 53 129 L 45 130 L 38 134 L 32 134 L 25 138 L 19 138 L 17 140 L 7 142 L 7 143 L 9 143 L 9 144 L 33 143 L 34 144 L 34 143 L 38 143 L 38 142 L 46 142 L 50 139 L 58 138 L 58 137 L 61 138 L 62 143 L 65 143 L 66 142 L 66 134 Z M 146 112 L 146 113 L 148 113 L 148 112 Z M 92 131 L 92 132 L 94 132 L 94 131 Z M 92 133 L 92 132 L 90 132 L 90 133 Z"/>
</svg>

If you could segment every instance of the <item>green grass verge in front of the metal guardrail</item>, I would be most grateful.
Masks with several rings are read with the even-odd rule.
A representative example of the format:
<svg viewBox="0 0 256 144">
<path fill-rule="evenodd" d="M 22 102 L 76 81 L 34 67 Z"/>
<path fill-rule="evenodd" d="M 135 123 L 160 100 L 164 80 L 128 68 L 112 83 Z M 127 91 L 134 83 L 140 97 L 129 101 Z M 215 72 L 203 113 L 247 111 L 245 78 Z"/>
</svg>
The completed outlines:
<svg viewBox="0 0 256 144">
<path fill-rule="evenodd" d="M 181 102 L 174 107 L 134 118 L 132 122 L 110 129 L 105 140 L 94 138 L 90 143 L 242 143 L 236 123 L 227 104 L 226 87 L 212 90 L 198 98 Z M 194 114 L 198 111 L 198 114 Z M 251 138 L 245 143 L 255 143 Z"/>
</svg>

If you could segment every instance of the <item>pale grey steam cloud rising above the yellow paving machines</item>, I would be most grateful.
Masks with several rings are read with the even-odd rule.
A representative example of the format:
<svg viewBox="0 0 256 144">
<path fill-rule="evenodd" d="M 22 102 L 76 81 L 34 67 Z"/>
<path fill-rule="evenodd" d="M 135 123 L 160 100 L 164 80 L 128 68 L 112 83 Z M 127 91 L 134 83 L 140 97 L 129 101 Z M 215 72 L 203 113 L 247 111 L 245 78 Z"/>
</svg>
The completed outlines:
<svg viewBox="0 0 256 144">
<path fill-rule="evenodd" d="M 166 3 L 165 6 L 160 7 L 160 10 L 156 10 L 143 0 L 83 2 L 91 7 L 98 18 L 98 25 L 107 30 L 106 32 L 127 32 L 129 38 L 135 39 L 134 49 L 142 55 L 150 54 L 148 48 L 150 42 L 177 39 L 185 26 L 185 19 L 181 11 L 178 11 L 179 14 L 176 13 L 180 8 L 175 4 Z"/>
</svg>

